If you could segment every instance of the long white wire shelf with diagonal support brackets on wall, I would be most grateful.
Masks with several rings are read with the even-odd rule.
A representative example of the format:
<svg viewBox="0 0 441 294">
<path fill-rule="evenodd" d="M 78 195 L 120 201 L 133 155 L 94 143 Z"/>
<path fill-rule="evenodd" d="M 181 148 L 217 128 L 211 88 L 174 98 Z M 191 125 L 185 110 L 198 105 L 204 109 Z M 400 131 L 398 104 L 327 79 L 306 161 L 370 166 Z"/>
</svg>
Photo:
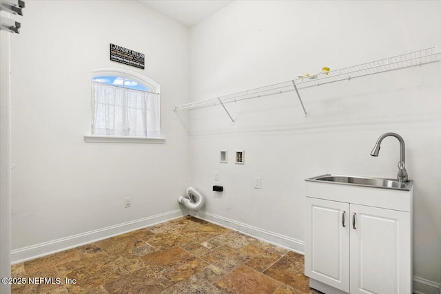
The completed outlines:
<svg viewBox="0 0 441 294">
<path fill-rule="evenodd" d="M 441 53 L 437 54 L 435 52 L 435 47 L 431 47 L 402 55 L 388 57 L 385 59 L 380 59 L 378 61 L 371 61 L 368 63 L 353 65 L 351 67 L 341 68 L 340 70 L 330 70 L 327 73 L 322 72 L 320 74 L 314 74 L 312 76 L 295 78 L 294 80 L 286 81 L 283 83 L 276 83 L 273 85 L 267 85 L 265 87 L 258 87 L 256 89 L 237 92 L 225 96 L 219 96 L 216 98 L 194 101 L 192 103 L 175 106 L 174 111 L 179 109 L 196 109 L 214 105 L 224 105 L 226 103 L 232 103 L 263 96 L 270 96 L 274 94 L 282 94 L 285 92 L 296 91 L 298 94 L 297 90 L 306 89 L 308 87 L 315 87 L 319 85 L 335 83 L 338 81 L 347 81 L 351 80 L 352 78 L 359 78 L 360 76 L 369 76 L 371 74 L 379 74 L 380 72 L 390 72 L 392 70 L 400 70 L 406 67 L 433 63 L 436 61 L 440 61 L 440 56 Z M 299 94 L 298 98 L 300 99 L 300 103 L 302 104 Z M 225 106 L 223 107 L 225 109 Z M 303 110 L 306 115 L 305 107 L 303 107 Z"/>
</svg>

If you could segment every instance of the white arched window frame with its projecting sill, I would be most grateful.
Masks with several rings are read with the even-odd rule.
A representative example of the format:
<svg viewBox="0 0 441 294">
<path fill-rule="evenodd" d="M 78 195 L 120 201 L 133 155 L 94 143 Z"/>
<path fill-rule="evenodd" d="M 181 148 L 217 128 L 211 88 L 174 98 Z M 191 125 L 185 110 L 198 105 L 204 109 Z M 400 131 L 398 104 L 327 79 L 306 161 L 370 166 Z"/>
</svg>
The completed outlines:
<svg viewBox="0 0 441 294">
<path fill-rule="evenodd" d="M 90 134 L 84 136 L 85 142 L 88 143 L 165 143 L 165 138 L 162 137 L 161 130 L 161 86 L 153 81 L 151 78 L 133 72 L 132 70 L 126 70 L 118 67 L 105 67 L 92 70 L 92 76 L 90 81 L 92 82 L 95 77 L 98 76 L 118 76 L 122 78 L 127 78 L 132 81 L 141 82 L 145 87 L 147 87 L 150 92 L 154 92 L 159 95 L 158 99 L 158 116 L 159 116 L 159 129 L 161 132 L 161 137 L 133 137 L 133 136 L 105 136 L 105 135 L 94 135 L 92 134 L 92 87 L 91 86 L 91 101 L 90 101 Z M 91 83 L 92 85 L 92 83 Z M 127 89 L 130 89 L 127 88 Z"/>
</svg>

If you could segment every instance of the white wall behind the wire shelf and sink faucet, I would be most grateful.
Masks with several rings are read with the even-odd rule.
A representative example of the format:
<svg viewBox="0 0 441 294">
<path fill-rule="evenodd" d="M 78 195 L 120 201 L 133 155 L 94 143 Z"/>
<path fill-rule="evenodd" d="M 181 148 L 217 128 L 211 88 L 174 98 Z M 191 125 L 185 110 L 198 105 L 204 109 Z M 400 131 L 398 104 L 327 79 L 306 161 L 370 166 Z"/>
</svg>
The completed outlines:
<svg viewBox="0 0 441 294">
<path fill-rule="evenodd" d="M 235 1 L 191 30 L 190 100 L 232 94 L 297 74 L 441 48 L 440 1 Z M 439 63 L 189 111 L 192 185 L 200 213 L 304 240 L 304 179 L 320 174 L 395 178 L 406 142 L 415 181 L 415 275 L 441 282 L 441 70 Z M 227 165 L 219 150 L 229 151 Z M 245 165 L 234 151 L 245 149 Z M 219 171 L 219 181 L 214 172 Z M 254 177 L 261 189 L 254 189 Z M 223 193 L 212 185 L 223 185 Z M 380 240 L 379 240 L 380 242 Z M 294 244 L 294 243 L 293 243 Z"/>
</svg>

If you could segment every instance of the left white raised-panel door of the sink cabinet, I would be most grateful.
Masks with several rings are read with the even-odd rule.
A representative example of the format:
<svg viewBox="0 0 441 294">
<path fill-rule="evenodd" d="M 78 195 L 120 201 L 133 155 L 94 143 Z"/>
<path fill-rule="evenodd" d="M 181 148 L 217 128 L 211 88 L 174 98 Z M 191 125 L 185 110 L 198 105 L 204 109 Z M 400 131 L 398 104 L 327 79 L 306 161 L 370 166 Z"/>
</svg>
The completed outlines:
<svg viewBox="0 0 441 294">
<path fill-rule="evenodd" d="M 305 275 L 349 293 L 349 204 L 306 198 Z"/>
</svg>

